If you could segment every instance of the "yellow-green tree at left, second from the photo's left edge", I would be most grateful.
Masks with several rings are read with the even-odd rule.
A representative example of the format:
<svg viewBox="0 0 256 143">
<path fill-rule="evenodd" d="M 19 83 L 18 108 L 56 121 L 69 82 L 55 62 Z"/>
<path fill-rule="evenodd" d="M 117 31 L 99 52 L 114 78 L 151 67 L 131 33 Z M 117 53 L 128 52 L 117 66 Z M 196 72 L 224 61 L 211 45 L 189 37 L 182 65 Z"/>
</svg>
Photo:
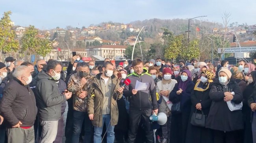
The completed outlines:
<svg viewBox="0 0 256 143">
<path fill-rule="evenodd" d="M 21 38 L 21 53 L 24 54 L 26 60 L 30 61 L 32 54 L 38 56 L 46 56 L 51 52 L 52 42 L 47 38 L 38 37 L 38 29 L 30 25 Z"/>
</svg>

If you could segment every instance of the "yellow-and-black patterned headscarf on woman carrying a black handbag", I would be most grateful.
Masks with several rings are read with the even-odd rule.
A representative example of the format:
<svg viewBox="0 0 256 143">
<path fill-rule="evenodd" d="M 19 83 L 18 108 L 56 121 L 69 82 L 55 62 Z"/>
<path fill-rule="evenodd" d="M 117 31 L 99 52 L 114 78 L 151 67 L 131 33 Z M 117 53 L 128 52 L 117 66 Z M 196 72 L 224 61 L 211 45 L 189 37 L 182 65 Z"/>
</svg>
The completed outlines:
<svg viewBox="0 0 256 143">
<path fill-rule="evenodd" d="M 206 91 L 210 87 L 210 83 L 213 82 L 214 74 L 210 69 L 204 70 L 200 72 L 201 74 L 205 74 L 208 81 L 206 83 L 202 83 L 201 81 L 197 81 L 195 84 L 194 90 L 195 91 Z"/>
</svg>

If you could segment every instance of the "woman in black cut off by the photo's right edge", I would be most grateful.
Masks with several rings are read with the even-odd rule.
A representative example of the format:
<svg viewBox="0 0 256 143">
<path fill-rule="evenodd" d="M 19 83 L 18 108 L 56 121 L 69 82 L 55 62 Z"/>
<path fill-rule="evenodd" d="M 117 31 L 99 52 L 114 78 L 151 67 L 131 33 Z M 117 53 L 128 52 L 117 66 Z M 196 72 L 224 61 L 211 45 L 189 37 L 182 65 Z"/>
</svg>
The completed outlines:
<svg viewBox="0 0 256 143">
<path fill-rule="evenodd" d="M 250 94 L 250 97 L 248 98 L 248 105 L 252 111 L 252 119 L 251 119 L 251 128 L 252 128 L 252 138 L 253 138 L 253 143 L 256 143 L 256 71 L 253 71 L 249 74 L 248 82 L 250 83 L 249 85 L 252 87 L 249 90 L 252 90 L 252 93 Z M 250 114 L 251 115 L 251 114 Z M 249 135 L 251 134 L 248 132 Z M 248 136 L 250 139 L 250 136 Z M 250 141 L 250 140 L 249 140 Z M 249 142 L 247 142 L 249 143 Z"/>
</svg>

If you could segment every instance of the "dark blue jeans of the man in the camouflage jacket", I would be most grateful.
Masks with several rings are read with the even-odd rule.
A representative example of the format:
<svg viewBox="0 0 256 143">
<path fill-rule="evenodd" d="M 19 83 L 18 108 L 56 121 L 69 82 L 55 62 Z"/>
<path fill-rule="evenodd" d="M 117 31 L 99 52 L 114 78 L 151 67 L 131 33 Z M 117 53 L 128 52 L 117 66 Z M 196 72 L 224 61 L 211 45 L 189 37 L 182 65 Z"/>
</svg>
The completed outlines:
<svg viewBox="0 0 256 143">
<path fill-rule="evenodd" d="M 82 130 L 82 124 L 84 122 L 84 140 L 83 143 L 91 143 L 91 137 L 93 135 L 93 124 L 89 119 L 87 112 L 80 112 L 74 110 L 73 113 L 73 132 L 72 143 L 79 143 L 79 136 Z"/>
</svg>

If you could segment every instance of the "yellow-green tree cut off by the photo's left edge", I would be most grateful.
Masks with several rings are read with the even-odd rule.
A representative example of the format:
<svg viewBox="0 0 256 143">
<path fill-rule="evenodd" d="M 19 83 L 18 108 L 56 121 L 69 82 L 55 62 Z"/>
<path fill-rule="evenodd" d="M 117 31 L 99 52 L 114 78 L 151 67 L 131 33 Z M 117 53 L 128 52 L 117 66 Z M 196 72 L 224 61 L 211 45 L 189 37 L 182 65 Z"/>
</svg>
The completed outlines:
<svg viewBox="0 0 256 143">
<path fill-rule="evenodd" d="M 0 47 L 2 54 L 6 52 L 16 52 L 19 49 L 19 41 L 15 40 L 15 32 L 11 25 L 11 11 L 4 12 L 4 16 L 0 20 Z M 2 61 L 4 57 L 2 56 Z"/>
</svg>

